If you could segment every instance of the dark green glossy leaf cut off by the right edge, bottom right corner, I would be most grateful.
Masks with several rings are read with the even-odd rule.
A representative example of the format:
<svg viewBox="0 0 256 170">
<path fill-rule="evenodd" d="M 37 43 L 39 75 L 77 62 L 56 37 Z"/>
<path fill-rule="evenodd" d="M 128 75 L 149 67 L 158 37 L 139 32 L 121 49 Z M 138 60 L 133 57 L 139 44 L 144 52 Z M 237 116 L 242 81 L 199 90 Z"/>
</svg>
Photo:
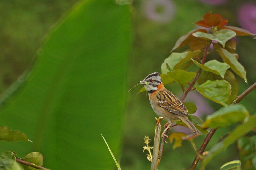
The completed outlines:
<svg viewBox="0 0 256 170">
<path fill-rule="evenodd" d="M 256 135 L 252 137 L 241 137 L 236 145 L 239 150 L 239 159 L 241 160 L 242 169 L 256 169 Z"/>
</svg>

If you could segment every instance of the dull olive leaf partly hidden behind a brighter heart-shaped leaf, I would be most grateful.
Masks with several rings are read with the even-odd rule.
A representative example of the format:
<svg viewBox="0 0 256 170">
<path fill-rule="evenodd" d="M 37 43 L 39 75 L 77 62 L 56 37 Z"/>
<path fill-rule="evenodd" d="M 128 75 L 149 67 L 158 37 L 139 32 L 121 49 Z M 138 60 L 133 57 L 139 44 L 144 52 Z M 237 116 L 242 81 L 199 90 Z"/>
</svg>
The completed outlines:
<svg viewBox="0 0 256 170">
<path fill-rule="evenodd" d="M 213 74 L 211 72 L 208 71 L 204 71 L 201 75 L 200 78 L 198 78 L 197 82 L 199 85 L 203 84 L 204 82 L 206 82 L 207 80 L 223 80 L 223 78 L 219 75 Z M 231 94 L 229 96 L 228 99 L 228 103 L 231 103 L 233 100 L 236 99 L 236 95 L 238 93 L 238 84 L 236 81 L 236 77 L 234 76 L 234 74 L 227 70 L 226 74 L 224 76 L 224 80 L 226 80 L 230 85 L 231 85 Z"/>
</svg>

